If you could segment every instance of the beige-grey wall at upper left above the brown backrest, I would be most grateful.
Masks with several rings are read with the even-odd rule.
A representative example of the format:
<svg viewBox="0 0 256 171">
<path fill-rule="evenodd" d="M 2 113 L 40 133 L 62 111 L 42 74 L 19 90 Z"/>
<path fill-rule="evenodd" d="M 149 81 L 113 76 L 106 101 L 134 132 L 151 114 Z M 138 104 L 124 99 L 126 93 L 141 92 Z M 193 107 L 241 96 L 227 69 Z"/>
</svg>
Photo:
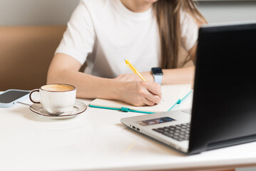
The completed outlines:
<svg viewBox="0 0 256 171">
<path fill-rule="evenodd" d="M 0 26 L 63 25 L 79 0 L 0 0 Z"/>
</svg>

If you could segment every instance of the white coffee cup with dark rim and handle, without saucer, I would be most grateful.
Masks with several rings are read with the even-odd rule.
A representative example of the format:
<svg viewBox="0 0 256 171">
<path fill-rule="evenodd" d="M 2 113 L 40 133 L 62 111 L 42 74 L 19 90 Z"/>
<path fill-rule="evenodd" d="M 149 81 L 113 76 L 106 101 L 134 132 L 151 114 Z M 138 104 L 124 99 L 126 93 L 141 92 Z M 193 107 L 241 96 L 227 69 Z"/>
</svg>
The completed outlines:
<svg viewBox="0 0 256 171">
<path fill-rule="evenodd" d="M 32 94 L 35 92 L 39 92 L 39 100 L 32 98 Z M 48 113 L 69 112 L 76 102 L 76 87 L 62 83 L 47 84 L 39 89 L 32 90 L 29 98 L 33 103 L 41 103 L 43 109 Z"/>
</svg>

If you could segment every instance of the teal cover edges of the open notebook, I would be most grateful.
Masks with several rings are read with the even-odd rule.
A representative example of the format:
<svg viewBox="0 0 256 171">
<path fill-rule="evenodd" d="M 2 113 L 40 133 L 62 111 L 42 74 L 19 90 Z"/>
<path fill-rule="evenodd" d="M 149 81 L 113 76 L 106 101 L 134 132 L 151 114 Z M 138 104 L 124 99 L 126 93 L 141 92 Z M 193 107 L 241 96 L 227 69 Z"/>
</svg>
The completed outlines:
<svg viewBox="0 0 256 171">
<path fill-rule="evenodd" d="M 188 97 L 188 95 L 190 95 L 191 92 L 192 92 L 192 90 L 190 90 L 190 92 L 187 95 L 185 95 L 184 98 L 178 99 L 177 102 L 172 107 L 170 107 L 170 109 L 167 110 L 167 111 L 172 110 L 172 108 L 176 104 L 180 104 L 185 98 Z M 122 108 L 108 108 L 108 107 L 102 107 L 102 106 L 90 105 L 90 104 L 89 104 L 89 107 L 91 107 L 91 108 L 102 108 L 102 109 L 111 109 L 111 110 L 121 110 L 122 112 L 135 112 L 135 113 L 146 113 L 146 114 L 152 114 L 153 113 L 153 112 L 144 112 L 144 111 L 140 111 L 140 110 L 130 110 L 130 108 L 123 108 L 123 107 Z"/>
</svg>

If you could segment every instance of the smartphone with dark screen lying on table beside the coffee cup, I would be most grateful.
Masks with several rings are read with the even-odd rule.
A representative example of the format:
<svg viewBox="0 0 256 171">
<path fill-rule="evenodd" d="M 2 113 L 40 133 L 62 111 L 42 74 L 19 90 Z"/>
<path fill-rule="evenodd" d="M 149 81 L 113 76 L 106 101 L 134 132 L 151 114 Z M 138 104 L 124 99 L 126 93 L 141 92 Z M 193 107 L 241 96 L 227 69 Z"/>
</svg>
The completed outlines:
<svg viewBox="0 0 256 171">
<path fill-rule="evenodd" d="M 9 108 L 17 103 L 17 101 L 29 98 L 29 90 L 10 89 L 0 94 L 0 108 Z"/>
</svg>

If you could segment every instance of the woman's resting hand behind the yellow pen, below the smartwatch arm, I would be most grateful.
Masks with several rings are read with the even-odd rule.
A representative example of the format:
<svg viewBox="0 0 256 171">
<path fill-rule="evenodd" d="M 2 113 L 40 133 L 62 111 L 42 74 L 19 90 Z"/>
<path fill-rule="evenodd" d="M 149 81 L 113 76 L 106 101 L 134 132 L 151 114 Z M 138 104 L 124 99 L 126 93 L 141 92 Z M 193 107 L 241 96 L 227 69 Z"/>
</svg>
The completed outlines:
<svg viewBox="0 0 256 171">
<path fill-rule="evenodd" d="M 150 72 L 143 72 L 141 74 L 143 75 L 143 77 L 145 77 L 147 81 L 154 81 L 154 78 Z M 135 73 L 121 74 L 114 79 L 119 81 L 141 81 L 140 77 Z"/>
</svg>

